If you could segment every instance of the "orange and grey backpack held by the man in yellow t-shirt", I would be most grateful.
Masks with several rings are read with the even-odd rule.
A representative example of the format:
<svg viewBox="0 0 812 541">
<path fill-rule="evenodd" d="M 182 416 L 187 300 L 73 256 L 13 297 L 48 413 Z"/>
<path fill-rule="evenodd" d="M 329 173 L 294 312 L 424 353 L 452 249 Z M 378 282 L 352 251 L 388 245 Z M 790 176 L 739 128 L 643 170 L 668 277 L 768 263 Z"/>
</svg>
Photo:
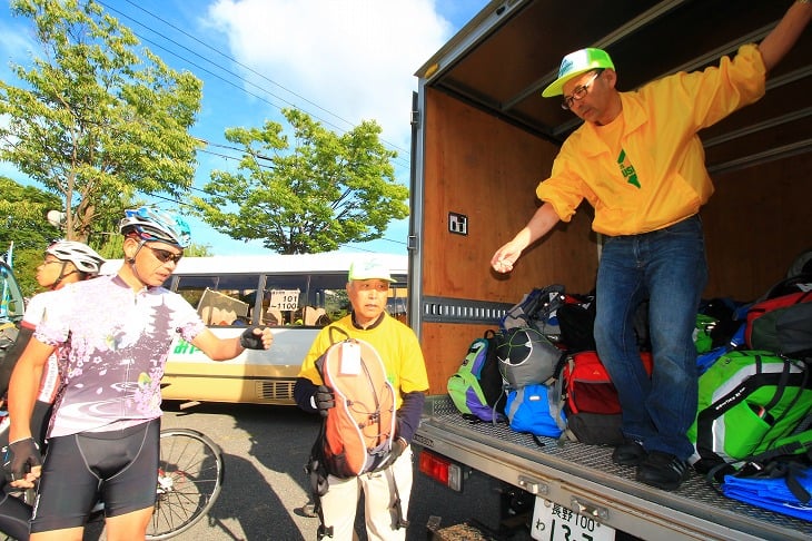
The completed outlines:
<svg viewBox="0 0 812 541">
<path fill-rule="evenodd" d="M 380 468 L 395 436 L 395 387 L 378 352 L 360 340 L 333 344 L 316 362 L 324 384 L 336 397 L 316 445 L 324 466 L 337 478 Z"/>
</svg>

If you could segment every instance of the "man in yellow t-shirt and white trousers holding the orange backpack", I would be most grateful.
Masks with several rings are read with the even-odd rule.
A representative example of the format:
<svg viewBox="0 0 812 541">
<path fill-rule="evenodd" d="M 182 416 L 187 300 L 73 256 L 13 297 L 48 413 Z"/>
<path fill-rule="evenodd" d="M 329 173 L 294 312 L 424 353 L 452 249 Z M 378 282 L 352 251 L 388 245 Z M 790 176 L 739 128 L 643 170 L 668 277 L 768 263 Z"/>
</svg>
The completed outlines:
<svg viewBox="0 0 812 541">
<path fill-rule="evenodd" d="M 353 525 L 360 491 L 364 491 L 367 539 L 406 539 L 404 520 L 412 492 L 409 443 L 420 422 L 428 375 L 415 333 L 385 312 L 392 282 L 395 281 L 389 269 L 380 260 L 373 257 L 353 262 L 347 282 L 353 312 L 319 332 L 294 387 L 296 403 L 305 411 L 326 416 L 327 410 L 335 407 L 334 390 L 324 384 L 316 361 L 333 345 L 335 336 L 339 336 L 339 340 L 358 338 L 370 344 L 380 355 L 387 380 L 395 388 L 397 425 L 393 447 L 397 451 L 389 465 L 350 479 L 339 479 L 328 472 L 327 493 L 319 498 L 319 504 L 321 529 L 331 531 L 334 541 L 355 539 Z"/>
</svg>

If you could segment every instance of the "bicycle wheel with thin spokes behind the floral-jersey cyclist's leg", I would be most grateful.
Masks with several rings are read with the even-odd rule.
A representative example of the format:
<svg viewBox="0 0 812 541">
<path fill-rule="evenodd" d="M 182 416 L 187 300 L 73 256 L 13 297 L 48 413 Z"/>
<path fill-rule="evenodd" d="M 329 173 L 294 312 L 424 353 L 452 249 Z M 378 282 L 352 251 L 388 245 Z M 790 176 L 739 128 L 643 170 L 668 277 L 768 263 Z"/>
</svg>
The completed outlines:
<svg viewBox="0 0 812 541">
<path fill-rule="evenodd" d="M 217 501 L 224 473 L 222 452 L 207 435 L 189 429 L 162 430 L 147 539 L 169 539 L 191 528 Z"/>
</svg>

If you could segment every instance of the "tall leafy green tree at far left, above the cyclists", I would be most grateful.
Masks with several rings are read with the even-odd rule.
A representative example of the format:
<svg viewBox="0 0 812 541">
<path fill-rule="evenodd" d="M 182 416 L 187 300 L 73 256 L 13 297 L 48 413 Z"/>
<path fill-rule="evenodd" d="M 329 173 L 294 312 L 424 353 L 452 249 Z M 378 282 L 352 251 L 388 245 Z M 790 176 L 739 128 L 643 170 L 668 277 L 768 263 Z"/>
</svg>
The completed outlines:
<svg viewBox="0 0 812 541">
<path fill-rule="evenodd" d="M 59 194 L 65 237 L 87 240 L 122 195 L 179 197 L 191 186 L 188 134 L 201 82 L 169 69 L 92 0 L 13 0 L 33 21 L 42 57 L 0 81 L 0 159 Z"/>
</svg>

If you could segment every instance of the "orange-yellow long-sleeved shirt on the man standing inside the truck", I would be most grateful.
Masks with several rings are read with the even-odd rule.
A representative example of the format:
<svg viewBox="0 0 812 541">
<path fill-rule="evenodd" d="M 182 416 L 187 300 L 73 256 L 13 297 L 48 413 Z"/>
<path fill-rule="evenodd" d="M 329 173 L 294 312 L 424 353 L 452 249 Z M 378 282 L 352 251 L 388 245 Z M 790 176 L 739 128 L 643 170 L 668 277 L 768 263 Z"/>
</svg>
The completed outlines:
<svg viewBox="0 0 812 541">
<path fill-rule="evenodd" d="M 586 198 L 592 228 L 605 235 L 662 229 L 700 212 L 713 194 L 696 132 L 764 95 L 766 70 L 754 45 L 719 67 L 680 72 L 634 92 L 621 92 L 620 149 L 585 122 L 561 148 L 549 178 L 536 188 L 570 222 Z"/>
</svg>

